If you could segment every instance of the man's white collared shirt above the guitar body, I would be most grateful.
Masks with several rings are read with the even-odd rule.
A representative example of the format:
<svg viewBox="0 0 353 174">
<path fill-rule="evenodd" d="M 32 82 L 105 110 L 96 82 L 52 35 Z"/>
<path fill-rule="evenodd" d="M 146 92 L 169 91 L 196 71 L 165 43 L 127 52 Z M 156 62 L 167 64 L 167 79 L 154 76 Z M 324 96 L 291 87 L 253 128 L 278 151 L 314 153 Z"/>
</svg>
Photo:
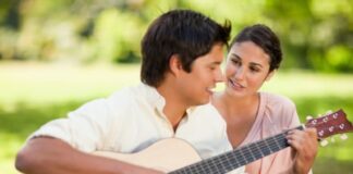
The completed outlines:
<svg viewBox="0 0 353 174">
<path fill-rule="evenodd" d="M 90 101 L 31 137 L 56 137 L 85 152 L 136 152 L 170 137 L 188 141 L 203 159 L 232 149 L 226 122 L 209 103 L 188 109 L 175 132 L 162 112 L 165 103 L 156 88 L 141 84 Z"/>
</svg>

